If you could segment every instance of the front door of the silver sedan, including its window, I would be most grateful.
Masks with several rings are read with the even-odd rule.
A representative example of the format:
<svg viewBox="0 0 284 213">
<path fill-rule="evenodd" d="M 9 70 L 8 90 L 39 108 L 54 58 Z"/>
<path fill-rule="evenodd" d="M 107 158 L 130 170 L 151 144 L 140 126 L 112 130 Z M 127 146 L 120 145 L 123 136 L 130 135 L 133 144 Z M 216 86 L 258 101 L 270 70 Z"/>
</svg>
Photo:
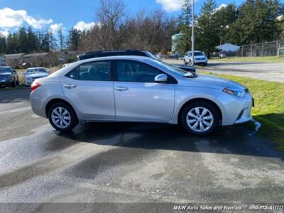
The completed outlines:
<svg viewBox="0 0 284 213">
<path fill-rule="evenodd" d="M 169 121 L 173 116 L 173 82 L 157 83 L 162 71 L 135 60 L 114 60 L 116 119 Z M 169 76 L 170 77 L 170 76 Z"/>
</svg>

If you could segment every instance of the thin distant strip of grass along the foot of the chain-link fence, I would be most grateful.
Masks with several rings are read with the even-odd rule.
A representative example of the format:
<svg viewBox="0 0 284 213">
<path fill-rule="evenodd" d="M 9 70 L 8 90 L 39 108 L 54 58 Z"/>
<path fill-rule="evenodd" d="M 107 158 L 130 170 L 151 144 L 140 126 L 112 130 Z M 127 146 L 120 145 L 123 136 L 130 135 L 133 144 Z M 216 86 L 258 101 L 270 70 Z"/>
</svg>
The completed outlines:
<svg viewBox="0 0 284 213">
<path fill-rule="evenodd" d="M 266 56 L 266 57 L 228 57 L 228 58 L 210 58 L 209 61 L 218 62 L 284 62 L 284 57 Z"/>
</svg>

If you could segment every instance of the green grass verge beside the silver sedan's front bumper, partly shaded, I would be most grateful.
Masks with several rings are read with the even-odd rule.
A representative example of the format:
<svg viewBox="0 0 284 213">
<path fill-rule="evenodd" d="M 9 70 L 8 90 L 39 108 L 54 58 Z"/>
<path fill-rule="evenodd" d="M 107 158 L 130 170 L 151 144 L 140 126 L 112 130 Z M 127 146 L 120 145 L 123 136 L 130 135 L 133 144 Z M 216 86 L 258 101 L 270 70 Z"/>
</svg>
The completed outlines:
<svg viewBox="0 0 284 213">
<path fill-rule="evenodd" d="M 211 72 L 207 74 L 215 75 Z M 252 109 L 253 119 L 261 123 L 257 134 L 270 138 L 280 151 L 284 151 L 284 84 L 234 75 L 217 76 L 234 80 L 249 88 L 256 105 Z"/>
</svg>

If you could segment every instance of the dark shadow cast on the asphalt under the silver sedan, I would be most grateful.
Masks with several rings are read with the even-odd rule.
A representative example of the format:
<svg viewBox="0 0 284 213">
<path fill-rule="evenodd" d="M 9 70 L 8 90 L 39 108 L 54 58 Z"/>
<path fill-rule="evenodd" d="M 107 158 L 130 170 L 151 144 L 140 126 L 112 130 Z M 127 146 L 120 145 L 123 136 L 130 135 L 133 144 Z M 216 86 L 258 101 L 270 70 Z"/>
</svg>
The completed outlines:
<svg viewBox="0 0 284 213">
<path fill-rule="evenodd" d="M 133 123 L 90 123 L 79 125 L 68 133 L 55 133 L 67 139 L 62 140 L 66 147 L 80 141 L 125 148 L 252 155 L 284 160 L 284 154 L 276 151 L 270 141 L 258 138 L 241 125 L 220 127 L 210 136 L 193 136 L 176 125 Z M 55 146 L 62 148 L 62 145 L 53 143 L 53 149 Z"/>
</svg>

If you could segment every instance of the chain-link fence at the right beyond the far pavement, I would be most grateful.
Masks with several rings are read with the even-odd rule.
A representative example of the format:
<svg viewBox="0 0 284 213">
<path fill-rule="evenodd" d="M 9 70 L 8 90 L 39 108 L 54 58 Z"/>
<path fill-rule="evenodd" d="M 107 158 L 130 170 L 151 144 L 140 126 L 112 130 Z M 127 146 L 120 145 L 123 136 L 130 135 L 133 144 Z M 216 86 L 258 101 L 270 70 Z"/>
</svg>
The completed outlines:
<svg viewBox="0 0 284 213">
<path fill-rule="evenodd" d="M 284 41 L 275 40 L 271 42 L 242 45 L 236 52 L 237 57 L 264 57 L 284 56 Z"/>
</svg>

